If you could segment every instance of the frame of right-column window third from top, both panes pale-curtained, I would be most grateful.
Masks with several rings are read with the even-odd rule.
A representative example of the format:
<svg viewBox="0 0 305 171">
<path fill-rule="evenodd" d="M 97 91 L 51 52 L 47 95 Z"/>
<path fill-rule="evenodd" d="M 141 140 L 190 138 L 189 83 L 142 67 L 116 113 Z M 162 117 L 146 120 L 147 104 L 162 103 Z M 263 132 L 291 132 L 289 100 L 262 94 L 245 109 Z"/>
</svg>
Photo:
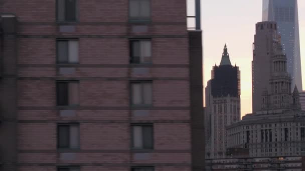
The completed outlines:
<svg viewBox="0 0 305 171">
<path fill-rule="evenodd" d="M 134 83 L 140 83 L 141 84 L 141 104 L 133 104 L 133 88 L 132 84 Z M 142 103 L 144 101 L 144 90 L 143 90 L 143 83 L 150 83 L 151 84 L 151 104 L 144 104 Z M 153 80 L 132 80 L 129 82 L 129 104 L 132 107 L 150 107 L 154 105 L 154 95 L 153 95 Z"/>
</svg>

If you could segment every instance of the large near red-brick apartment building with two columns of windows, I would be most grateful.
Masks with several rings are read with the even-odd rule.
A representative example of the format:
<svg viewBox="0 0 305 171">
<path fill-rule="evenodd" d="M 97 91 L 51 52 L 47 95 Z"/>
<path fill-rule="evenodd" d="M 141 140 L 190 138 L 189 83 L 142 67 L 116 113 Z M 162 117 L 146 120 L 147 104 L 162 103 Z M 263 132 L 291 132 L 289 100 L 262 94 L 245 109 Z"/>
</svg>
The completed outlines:
<svg viewBox="0 0 305 171">
<path fill-rule="evenodd" d="M 204 170 L 185 0 L 2 0 L 0 13 L 1 171 Z"/>
</svg>

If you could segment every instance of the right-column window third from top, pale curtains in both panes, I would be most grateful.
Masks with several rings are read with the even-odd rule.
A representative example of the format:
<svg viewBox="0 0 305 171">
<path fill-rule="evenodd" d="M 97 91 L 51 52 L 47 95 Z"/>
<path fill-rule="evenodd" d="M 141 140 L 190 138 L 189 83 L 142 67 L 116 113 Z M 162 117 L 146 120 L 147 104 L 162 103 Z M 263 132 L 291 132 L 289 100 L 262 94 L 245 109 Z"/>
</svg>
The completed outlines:
<svg viewBox="0 0 305 171">
<path fill-rule="evenodd" d="M 153 103 L 151 81 L 131 82 L 132 105 L 151 105 Z"/>
</svg>

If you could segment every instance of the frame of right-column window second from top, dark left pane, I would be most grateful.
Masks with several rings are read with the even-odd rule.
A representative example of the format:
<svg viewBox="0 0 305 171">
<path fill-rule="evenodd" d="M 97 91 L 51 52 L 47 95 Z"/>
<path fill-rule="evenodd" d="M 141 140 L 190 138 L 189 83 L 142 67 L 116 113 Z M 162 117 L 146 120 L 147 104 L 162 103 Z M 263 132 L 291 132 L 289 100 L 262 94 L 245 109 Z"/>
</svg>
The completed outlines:
<svg viewBox="0 0 305 171">
<path fill-rule="evenodd" d="M 140 43 L 141 48 L 141 41 L 150 41 L 150 61 L 149 62 L 141 62 L 141 56 L 139 57 L 139 62 L 134 62 L 133 56 L 133 42 L 138 41 Z M 140 51 L 139 51 L 140 53 Z M 130 38 L 129 39 L 129 64 L 153 64 L 153 40 L 151 38 Z"/>
</svg>

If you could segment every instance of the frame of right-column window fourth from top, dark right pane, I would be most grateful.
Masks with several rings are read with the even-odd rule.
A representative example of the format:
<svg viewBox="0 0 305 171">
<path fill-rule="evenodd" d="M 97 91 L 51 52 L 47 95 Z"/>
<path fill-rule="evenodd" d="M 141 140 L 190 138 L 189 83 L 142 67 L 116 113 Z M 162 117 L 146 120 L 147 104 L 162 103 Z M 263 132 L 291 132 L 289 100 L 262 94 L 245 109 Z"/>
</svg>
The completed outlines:
<svg viewBox="0 0 305 171">
<path fill-rule="evenodd" d="M 143 134 L 142 134 L 142 143 L 143 143 L 143 148 L 134 148 L 133 147 L 133 135 L 134 135 L 134 133 L 133 133 L 133 126 L 141 126 L 141 129 L 142 129 L 142 127 L 144 127 L 144 126 L 150 126 L 151 127 L 151 130 L 152 130 L 152 141 L 151 141 L 151 143 L 153 144 L 152 145 L 152 147 L 151 148 L 144 148 L 144 136 L 143 136 Z M 130 133 L 131 133 L 131 146 L 130 146 L 130 148 L 132 149 L 132 150 L 135 150 L 135 151 L 137 151 L 137 150 L 140 150 L 140 151 L 143 151 L 143 150 L 145 150 L 145 151 L 150 151 L 150 150 L 154 150 L 155 149 L 155 131 L 154 131 L 154 123 L 131 123 L 131 126 L 130 126 Z M 143 132 L 142 132 L 143 133 Z"/>
</svg>

